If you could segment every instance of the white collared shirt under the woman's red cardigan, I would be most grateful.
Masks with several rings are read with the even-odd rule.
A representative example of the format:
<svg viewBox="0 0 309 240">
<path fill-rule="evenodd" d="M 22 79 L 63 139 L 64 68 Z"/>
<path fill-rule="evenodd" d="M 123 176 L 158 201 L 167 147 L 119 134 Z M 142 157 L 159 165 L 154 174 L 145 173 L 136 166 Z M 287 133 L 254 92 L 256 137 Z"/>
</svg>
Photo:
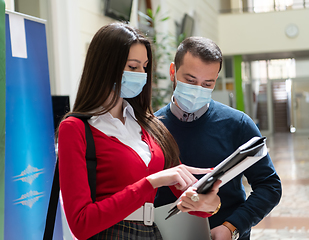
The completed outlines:
<svg viewBox="0 0 309 240">
<path fill-rule="evenodd" d="M 126 100 L 123 100 L 123 117 L 125 124 L 109 112 L 93 116 L 88 122 L 107 136 L 116 137 L 120 142 L 131 147 L 148 166 L 151 160 L 150 149 L 147 143 L 142 141 L 142 128 L 137 123 L 132 106 Z"/>
</svg>

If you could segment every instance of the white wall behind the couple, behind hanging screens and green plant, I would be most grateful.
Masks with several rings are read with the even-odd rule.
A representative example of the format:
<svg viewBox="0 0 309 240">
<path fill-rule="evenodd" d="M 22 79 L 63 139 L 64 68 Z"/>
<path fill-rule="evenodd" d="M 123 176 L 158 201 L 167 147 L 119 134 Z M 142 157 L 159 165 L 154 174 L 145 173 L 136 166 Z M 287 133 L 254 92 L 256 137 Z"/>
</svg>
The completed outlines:
<svg viewBox="0 0 309 240">
<path fill-rule="evenodd" d="M 55 44 L 55 92 L 70 95 L 71 105 L 80 79 L 87 46 L 95 32 L 115 20 L 104 16 L 102 0 L 51 1 L 53 42 Z M 175 21 L 181 23 L 184 13 L 195 19 L 194 34 L 218 40 L 217 12 L 219 3 L 211 0 L 153 0 L 153 9 L 161 5 L 161 12 L 171 17 L 159 31 L 176 33 Z M 131 21 L 137 26 L 137 0 L 133 3 Z M 168 74 L 168 68 L 167 68 Z"/>
</svg>

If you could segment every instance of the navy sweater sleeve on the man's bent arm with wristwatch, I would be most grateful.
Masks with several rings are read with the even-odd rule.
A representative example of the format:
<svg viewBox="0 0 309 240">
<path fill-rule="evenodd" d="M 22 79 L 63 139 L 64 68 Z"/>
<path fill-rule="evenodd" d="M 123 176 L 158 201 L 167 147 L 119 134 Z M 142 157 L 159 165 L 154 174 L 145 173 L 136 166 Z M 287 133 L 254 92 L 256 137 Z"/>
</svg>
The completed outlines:
<svg viewBox="0 0 309 240">
<path fill-rule="evenodd" d="M 253 136 L 261 136 L 251 119 L 244 116 L 241 124 L 244 133 L 243 141 Z M 252 226 L 258 224 L 280 201 L 282 189 L 269 154 L 244 172 L 252 192 L 225 221 L 232 223 L 240 233 L 240 237 L 248 233 Z"/>
</svg>

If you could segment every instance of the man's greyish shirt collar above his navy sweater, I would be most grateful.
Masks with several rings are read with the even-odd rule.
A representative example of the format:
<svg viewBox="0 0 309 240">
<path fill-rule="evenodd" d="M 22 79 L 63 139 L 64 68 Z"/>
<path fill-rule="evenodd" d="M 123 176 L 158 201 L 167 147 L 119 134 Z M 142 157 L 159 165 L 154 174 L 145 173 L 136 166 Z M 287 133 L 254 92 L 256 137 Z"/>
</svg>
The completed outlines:
<svg viewBox="0 0 309 240">
<path fill-rule="evenodd" d="M 207 111 L 208 108 L 209 103 L 207 103 L 204 107 L 200 108 L 196 112 L 187 113 L 175 104 L 174 95 L 172 96 L 170 104 L 171 112 L 182 122 L 193 122 L 199 119 Z"/>
</svg>

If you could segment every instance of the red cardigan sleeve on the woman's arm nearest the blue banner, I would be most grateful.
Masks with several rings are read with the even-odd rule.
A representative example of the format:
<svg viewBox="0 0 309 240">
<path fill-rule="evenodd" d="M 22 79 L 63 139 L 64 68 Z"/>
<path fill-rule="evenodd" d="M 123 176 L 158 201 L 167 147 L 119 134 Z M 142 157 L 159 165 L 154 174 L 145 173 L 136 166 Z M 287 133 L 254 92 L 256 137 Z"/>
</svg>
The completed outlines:
<svg viewBox="0 0 309 240">
<path fill-rule="evenodd" d="M 79 239 L 111 227 L 141 207 L 155 191 L 146 178 L 101 201 L 92 202 L 85 160 L 84 123 L 63 121 L 58 140 L 60 189 L 64 210 L 73 234 Z"/>
</svg>

